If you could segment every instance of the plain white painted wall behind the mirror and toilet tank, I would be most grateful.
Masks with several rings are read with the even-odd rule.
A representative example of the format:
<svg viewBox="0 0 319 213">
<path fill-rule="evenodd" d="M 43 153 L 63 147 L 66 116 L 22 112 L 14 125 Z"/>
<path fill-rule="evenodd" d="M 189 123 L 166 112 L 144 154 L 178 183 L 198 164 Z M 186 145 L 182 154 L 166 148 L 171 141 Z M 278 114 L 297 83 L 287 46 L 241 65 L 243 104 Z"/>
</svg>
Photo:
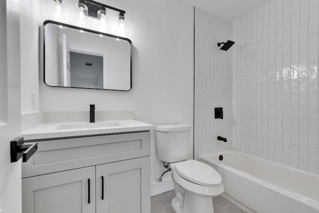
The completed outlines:
<svg viewBox="0 0 319 213">
<path fill-rule="evenodd" d="M 76 1 L 67 19 L 73 16 Z M 135 119 L 151 124 L 193 123 L 193 7 L 178 0 L 100 0 L 127 11 L 128 37 L 133 42 L 133 88 L 129 92 L 52 88 L 40 78 L 41 111 L 133 110 Z M 42 24 L 49 16 L 47 1 L 40 1 Z M 73 4 L 74 3 L 74 4 Z M 89 18 L 91 22 L 95 20 Z M 96 22 L 94 22 L 96 23 Z M 94 29 L 96 25 L 92 24 Z M 41 53 L 42 54 L 42 53 Z M 41 56 L 40 54 L 40 56 Z M 42 66 L 40 57 L 40 67 Z M 42 70 L 42 69 L 41 69 Z M 42 76 L 42 73 L 41 73 Z M 193 136 L 189 142 L 192 158 Z M 165 169 L 157 159 L 156 137 L 151 141 L 151 184 L 153 193 L 172 189 L 171 182 L 155 184 Z M 164 180 L 170 179 L 166 174 Z M 160 186 L 157 188 L 157 186 Z M 158 190 L 155 190 L 155 189 Z M 156 191 L 156 192 L 155 192 Z"/>
</svg>

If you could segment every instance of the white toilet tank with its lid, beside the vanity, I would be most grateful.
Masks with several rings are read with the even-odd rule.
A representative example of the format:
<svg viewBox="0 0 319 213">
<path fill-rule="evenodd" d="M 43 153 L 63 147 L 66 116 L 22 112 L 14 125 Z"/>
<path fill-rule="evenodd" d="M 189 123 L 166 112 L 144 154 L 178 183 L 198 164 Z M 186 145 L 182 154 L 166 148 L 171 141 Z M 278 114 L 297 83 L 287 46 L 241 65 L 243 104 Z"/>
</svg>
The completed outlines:
<svg viewBox="0 0 319 213">
<path fill-rule="evenodd" d="M 188 156 L 189 124 L 156 126 L 159 159 L 166 163 L 184 161 Z"/>
</svg>

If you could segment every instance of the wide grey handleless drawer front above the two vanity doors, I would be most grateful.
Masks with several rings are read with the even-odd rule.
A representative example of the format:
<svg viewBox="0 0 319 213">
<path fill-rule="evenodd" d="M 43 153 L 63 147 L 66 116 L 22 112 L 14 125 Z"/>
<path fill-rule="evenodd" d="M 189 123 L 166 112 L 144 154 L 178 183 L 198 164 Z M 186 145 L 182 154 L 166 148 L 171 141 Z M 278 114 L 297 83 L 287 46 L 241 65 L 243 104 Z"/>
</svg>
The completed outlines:
<svg viewBox="0 0 319 213">
<path fill-rule="evenodd" d="M 150 156 L 150 132 L 38 142 L 22 178 Z"/>
</svg>

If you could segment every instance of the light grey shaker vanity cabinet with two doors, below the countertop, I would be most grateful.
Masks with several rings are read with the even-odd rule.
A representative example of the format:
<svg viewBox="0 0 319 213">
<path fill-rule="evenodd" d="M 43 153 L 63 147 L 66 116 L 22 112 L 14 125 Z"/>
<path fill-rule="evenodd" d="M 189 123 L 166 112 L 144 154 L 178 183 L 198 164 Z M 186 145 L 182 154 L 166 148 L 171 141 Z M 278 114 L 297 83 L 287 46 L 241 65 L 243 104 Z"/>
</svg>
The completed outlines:
<svg viewBox="0 0 319 213">
<path fill-rule="evenodd" d="M 146 131 L 39 141 L 22 165 L 22 213 L 150 213 L 150 140 Z"/>
</svg>

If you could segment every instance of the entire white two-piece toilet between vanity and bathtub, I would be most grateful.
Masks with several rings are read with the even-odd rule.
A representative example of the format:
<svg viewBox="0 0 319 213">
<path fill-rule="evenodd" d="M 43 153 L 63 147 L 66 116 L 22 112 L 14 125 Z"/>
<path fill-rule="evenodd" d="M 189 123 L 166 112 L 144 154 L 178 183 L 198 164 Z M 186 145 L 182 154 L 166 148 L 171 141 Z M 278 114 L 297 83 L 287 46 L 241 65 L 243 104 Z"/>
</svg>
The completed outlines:
<svg viewBox="0 0 319 213">
<path fill-rule="evenodd" d="M 224 192 L 216 170 L 199 161 L 187 160 L 189 124 L 156 126 L 158 155 L 172 171 L 175 195 L 171 202 L 176 213 L 213 213 L 212 198 Z"/>
</svg>

